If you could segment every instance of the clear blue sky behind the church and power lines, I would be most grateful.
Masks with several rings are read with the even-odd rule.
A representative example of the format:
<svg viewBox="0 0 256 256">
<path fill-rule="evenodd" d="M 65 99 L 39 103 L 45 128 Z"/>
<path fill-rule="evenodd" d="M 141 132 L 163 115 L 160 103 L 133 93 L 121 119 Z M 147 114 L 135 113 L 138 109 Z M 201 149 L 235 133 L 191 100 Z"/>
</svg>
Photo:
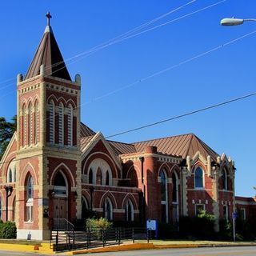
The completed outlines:
<svg viewBox="0 0 256 256">
<path fill-rule="evenodd" d="M 15 81 L 25 74 L 46 26 L 51 25 L 64 58 L 174 10 L 189 0 L 2 1 L 0 7 L 0 116 L 16 112 Z M 154 25 L 218 2 L 195 1 Z M 79 58 L 68 69 L 82 76 L 82 122 L 104 135 L 256 91 L 256 34 L 187 62 L 115 94 L 103 94 L 146 78 L 256 30 L 256 22 L 222 27 L 221 18 L 256 18 L 254 0 L 226 0 L 207 10 Z M 93 102 L 91 102 L 94 100 Z M 87 103 L 86 102 L 90 102 Z M 255 194 L 255 98 L 113 138 L 123 142 L 197 134 L 218 154 L 234 159 L 236 194 Z"/>
</svg>

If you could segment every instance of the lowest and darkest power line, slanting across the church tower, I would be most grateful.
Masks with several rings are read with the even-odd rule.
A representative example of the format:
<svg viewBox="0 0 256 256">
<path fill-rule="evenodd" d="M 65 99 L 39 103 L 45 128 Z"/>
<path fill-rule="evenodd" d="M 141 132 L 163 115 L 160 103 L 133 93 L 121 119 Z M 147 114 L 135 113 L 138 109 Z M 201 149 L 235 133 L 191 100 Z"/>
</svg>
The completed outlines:
<svg viewBox="0 0 256 256">
<path fill-rule="evenodd" d="M 170 122 L 170 121 L 173 121 L 175 119 L 185 118 L 186 116 L 190 116 L 190 115 L 197 114 L 197 113 L 200 113 L 200 112 L 203 112 L 203 111 L 206 111 L 206 110 L 214 109 L 214 108 L 216 108 L 218 106 L 224 106 L 224 105 L 230 104 L 232 102 L 238 102 L 238 101 L 240 101 L 242 99 L 250 98 L 250 97 L 253 97 L 255 95 L 256 95 L 256 92 L 253 92 L 251 94 L 246 94 L 246 95 L 240 96 L 238 98 L 232 98 L 232 99 L 227 100 L 225 102 L 220 102 L 220 103 L 217 103 L 217 104 L 214 104 L 214 105 L 211 105 L 211 106 L 206 106 L 206 107 L 203 107 L 203 108 L 198 109 L 198 110 L 193 110 L 193 111 L 187 112 L 185 114 L 179 114 L 179 115 L 176 115 L 174 117 L 166 118 L 166 119 L 163 119 L 163 120 L 158 121 L 158 122 L 152 122 L 152 123 L 147 124 L 145 126 L 138 126 L 136 128 L 130 129 L 130 130 L 124 130 L 124 131 L 116 133 L 116 134 L 108 135 L 105 138 L 113 138 L 113 137 L 117 137 L 117 136 L 122 135 L 122 134 L 129 134 L 129 133 L 134 132 L 136 130 L 146 129 L 146 128 L 150 127 L 150 126 L 157 126 L 157 125 L 162 124 L 164 122 Z M 94 139 L 90 140 L 90 142 L 94 142 L 94 141 L 95 141 Z M 74 147 L 75 146 L 64 146 L 63 150 L 74 148 Z M 62 147 L 60 146 L 59 149 L 62 149 Z M 30 156 L 30 157 L 25 157 L 25 158 L 14 159 L 12 161 L 0 162 L 0 164 L 2 165 L 2 164 L 5 164 L 5 163 L 10 163 L 10 162 L 14 162 L 14 161 L 24 160 L 24 159 L 33 158 L 33 157 L 36 157 L 36 156 L 41 156 L 41 155 L 43 155 L 43 154 L 34 154 L 32 157 Z"/>
</svg>

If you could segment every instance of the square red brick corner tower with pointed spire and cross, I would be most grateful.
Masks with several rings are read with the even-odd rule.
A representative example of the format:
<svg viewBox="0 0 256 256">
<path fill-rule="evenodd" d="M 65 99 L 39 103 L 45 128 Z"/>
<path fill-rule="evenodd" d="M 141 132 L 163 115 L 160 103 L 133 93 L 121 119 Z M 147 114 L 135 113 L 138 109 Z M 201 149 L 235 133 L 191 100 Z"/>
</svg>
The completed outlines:
<svg viewBox="0 0 256 256">
<path fill-rule="evenodd" d="M 47 239 L 54 218 L 81 211 L 80 90 L 47 26 L 26 76 L 18 74 L 18 238 Z"/>
</svg>

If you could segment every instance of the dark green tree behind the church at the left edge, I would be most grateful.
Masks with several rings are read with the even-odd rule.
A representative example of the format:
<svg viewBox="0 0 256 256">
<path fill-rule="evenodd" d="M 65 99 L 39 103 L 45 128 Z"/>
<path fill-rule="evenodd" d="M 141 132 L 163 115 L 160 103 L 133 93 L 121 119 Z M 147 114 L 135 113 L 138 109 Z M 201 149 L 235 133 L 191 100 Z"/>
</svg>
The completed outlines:
<svg viewBox="0 0 256 256">
<path fill-rule="evenodd" d="M 2 155 L 6 151 L 10 139 L 13 137 L 14 132 L 17 129 L 17 116 L 11 119 L 11 122 L 7 122 L 6 118 L 0 117 L 0 160 Z"/>
</svg>

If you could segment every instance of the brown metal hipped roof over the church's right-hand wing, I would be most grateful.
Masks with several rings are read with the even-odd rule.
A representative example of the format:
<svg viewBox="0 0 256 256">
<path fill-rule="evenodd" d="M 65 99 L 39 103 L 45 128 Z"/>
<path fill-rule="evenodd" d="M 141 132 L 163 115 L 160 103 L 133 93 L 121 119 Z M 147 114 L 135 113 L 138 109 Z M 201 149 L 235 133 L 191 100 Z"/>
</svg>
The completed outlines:
<svg viewBox="0 0 256 256">
<path fill-rule="evenodd" d="M 205 142 L 202 142 L 194 134 L 184 134 L 167 138 L 158 138 L 145 142 L 135 142 L 135 149 L 137 152 L 141 152 L 145 149 L 146 146 L 157 146 L 158 152 L 163 154 L 171 154 L 176 156 L 186 156 L 190 155 L 193 157 L 198 151 L 207 158 L 210 155 L 211 158 L 216 160 L 218 154 L 207 146 Z"/>
</svg>

